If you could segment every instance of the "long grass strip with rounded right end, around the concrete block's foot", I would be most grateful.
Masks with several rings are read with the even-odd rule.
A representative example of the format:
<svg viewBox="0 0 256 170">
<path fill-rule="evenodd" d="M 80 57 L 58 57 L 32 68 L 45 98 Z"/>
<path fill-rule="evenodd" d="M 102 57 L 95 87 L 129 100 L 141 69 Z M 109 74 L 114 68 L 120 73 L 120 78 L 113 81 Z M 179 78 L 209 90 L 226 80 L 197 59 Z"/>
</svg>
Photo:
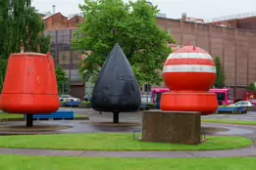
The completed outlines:
<svg viewBox="0 0 256 170">
<path fill-rule="evenodd" d="M 209 137 L 202 145 L 188 146 L 144 143 L 132 134 L 67 134 L 1 136 L 0 148 L 12 149 L 82 149 L 82 150 L 216 150 L 249 147 L 253 142 L 243 137 Z"/>
</svg>

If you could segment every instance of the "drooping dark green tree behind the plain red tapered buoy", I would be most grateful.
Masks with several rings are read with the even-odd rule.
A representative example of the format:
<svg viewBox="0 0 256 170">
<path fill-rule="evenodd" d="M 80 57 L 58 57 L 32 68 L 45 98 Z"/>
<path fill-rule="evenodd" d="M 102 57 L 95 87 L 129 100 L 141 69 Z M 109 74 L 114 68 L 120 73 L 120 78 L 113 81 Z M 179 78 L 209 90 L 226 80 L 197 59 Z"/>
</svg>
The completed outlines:
<svg viewBox="0 0 256 170">
<path fill-rule="evenodd" d="M 47 53 L 50 36 L 43 36 L 44 21 L 30 6 L 30 0 L 0 1 L 0 91 L 2 91 L 8 58 L 12 53 Z"/>
</svg>

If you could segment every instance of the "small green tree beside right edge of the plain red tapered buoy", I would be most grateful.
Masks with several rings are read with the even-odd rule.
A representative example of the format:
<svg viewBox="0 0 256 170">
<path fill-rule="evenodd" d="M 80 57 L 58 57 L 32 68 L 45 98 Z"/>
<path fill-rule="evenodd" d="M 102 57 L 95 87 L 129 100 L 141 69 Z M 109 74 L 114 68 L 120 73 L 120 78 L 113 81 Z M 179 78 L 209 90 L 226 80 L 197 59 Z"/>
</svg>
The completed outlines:
<svg viewBox="0 0 256 170">
<path fill-rule="evenodd" d="M 67 77 L 66 72 L 58 65 L 55 68 L 56 79 L 58 84 L 59 94 L 65 94 L 70 91 L 70 79 Z"/>
</svg>

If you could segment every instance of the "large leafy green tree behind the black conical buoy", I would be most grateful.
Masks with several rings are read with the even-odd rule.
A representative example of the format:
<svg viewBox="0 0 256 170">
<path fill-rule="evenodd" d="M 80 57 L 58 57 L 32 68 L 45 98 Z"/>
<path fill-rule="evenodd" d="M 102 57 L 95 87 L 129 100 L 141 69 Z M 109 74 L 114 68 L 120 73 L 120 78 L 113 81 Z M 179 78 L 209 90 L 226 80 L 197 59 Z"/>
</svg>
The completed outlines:
<svg viewBox="0 0 256 170">
<path fill-rule="evenodd" d="M 161 83 L 157 70 L 163 68 L 171 53 L 167 43 L 175 41 L 158 27 L 156 6 L 145 0 L 84 0 L 79 8 L 85 22 L 79 25 L 73 45 L 82 54 L 93 52 L 79 69 L 84 81 L 98 76 L 112 48 L 119 43 L 140 85 Z"/>
</svg>

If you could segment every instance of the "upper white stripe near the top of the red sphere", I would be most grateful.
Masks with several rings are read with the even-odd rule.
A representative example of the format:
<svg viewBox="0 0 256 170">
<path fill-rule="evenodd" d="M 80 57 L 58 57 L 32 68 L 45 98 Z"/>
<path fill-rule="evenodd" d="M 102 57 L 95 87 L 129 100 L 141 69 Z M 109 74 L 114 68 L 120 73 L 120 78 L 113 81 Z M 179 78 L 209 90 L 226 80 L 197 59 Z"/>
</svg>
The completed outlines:
<svg viewBox="0 0 256 170">
<path fill-rule="evenodd" d="M 169 55 L 169 59 L 208 59 L 213 61 L 213 58 L 206 53 L 172 53 Z"/>
</svg>

